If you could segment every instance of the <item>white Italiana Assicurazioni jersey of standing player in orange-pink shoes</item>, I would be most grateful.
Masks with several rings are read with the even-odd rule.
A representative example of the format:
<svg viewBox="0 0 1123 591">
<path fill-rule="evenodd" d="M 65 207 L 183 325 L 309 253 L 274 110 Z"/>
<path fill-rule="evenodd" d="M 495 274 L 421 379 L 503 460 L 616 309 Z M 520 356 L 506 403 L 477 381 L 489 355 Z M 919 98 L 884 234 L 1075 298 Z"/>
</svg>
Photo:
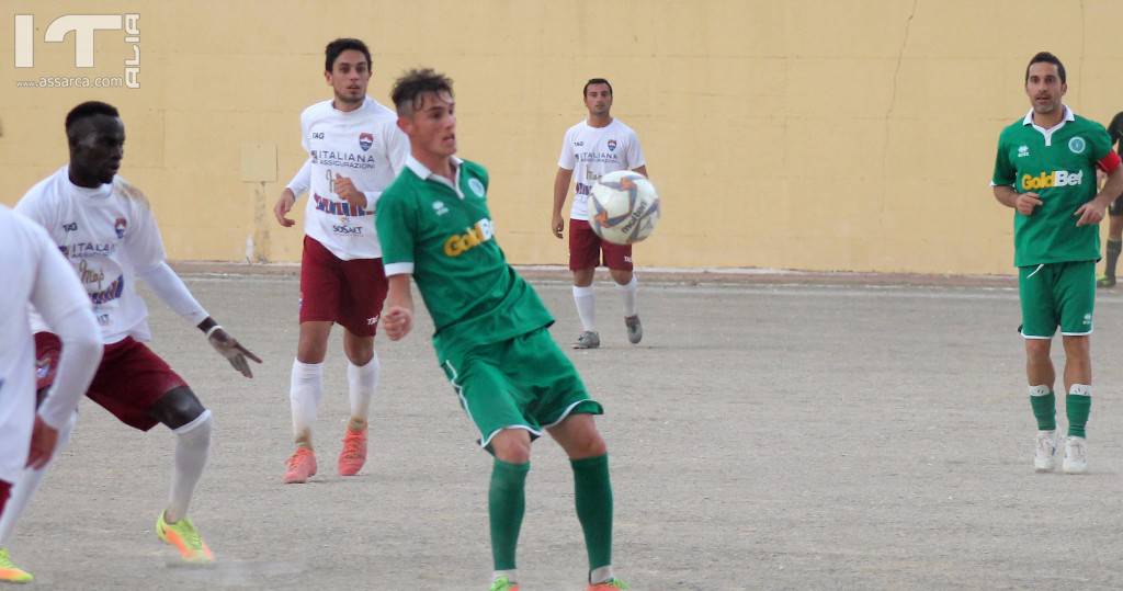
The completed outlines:
<svg viewBox="0 0 1123 591">
<path fill-rule="evenodd" d="M 298 196 L 298 189 L 309 188 L 304 234 L 344 261 L 382 258 L 374 229 L 375 202 L 410 154 L 410 140 L 398 128 L 398 113 L 369 97 L 354 111 L 340 111 L 327 100 L 300 113 L 300 128 L 309 160 L 290 188 Z M 338 175 L 350 179 L 366 194 L 365 208 L 353 208 L 336 194 Z"/>
</svg>

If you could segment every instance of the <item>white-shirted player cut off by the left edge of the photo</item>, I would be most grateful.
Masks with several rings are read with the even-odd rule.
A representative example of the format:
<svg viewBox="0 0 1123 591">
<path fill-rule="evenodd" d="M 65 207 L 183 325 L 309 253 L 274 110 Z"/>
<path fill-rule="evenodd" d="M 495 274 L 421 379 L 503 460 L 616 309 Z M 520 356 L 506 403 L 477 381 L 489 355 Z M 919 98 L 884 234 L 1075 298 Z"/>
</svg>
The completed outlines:
<svg viewBox="0 0 1123 591">
<path fill-rule="evenodd" d="M 42 469 L 51 461 L 60 433 L 71 417 L 101 361 L 101 338 L 90 300 L 74 272 L 47 234 L 34 221 L 0 206 L 0 520 L 11 485 L 25 466 Z M 64 344 L 57 376 L 36 413 L 35 340 L 28 303 L 53 326 Z M 17 511 L 18 512 L 18 511 Z M 15 522 L 15 518 L 11 518 Z M 33 576 L 11 563 L 0 537 L 0 581 L 30 582 Z"/>
</svg>

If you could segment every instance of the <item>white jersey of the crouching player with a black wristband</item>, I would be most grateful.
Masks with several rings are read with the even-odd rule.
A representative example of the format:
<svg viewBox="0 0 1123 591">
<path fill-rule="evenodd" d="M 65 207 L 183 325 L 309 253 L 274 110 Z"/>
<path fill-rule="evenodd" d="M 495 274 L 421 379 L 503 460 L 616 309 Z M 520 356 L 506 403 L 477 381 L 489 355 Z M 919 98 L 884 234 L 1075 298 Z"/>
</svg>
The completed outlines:
<svg viewBox="0 0 1123 591">
<path fill-rule="evenodd" d="M 120 176 L 97 189 L 79 187 L 63 166 L 33 187 L 16 211 L 43 226 L 77 272 L 103 343 L 152 338 L 136 278 L 163 264 L 165 255 L 152 208 L 138 190 Z M 35 316 L 33 325 L 36 331 L 49 329 Z"/>
</svg>

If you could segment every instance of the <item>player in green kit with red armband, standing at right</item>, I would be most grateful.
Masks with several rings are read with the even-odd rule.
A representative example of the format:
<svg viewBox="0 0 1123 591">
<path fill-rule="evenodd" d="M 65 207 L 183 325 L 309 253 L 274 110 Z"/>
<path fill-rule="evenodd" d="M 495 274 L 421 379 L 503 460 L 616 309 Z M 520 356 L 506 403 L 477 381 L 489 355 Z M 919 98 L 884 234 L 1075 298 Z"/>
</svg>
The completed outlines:
<svg viewBox="0 0 1123 591">
<path fill-rule="evenodd" d="M 1087 471 L 1085 426 L 1092 408 L 1092 311 L 1099 221 L 1123 190 L 1120 157 L 1104 127 L 1061 100 L 1065 66 L 1041 52 L 1025 69 L 1032 109 L 1003 129 L 990 181 L 995 198 L 1014 208 L 1014 264 L 1022 302 L 1025 371 L 1038 420 L 1034 467 L 1051 471 L 1057 453 L 1056 398 L 1049 348 L 1060 326 L 1065 345 L 1068 438 L 1063 470 Z M 1096 169 L 1107 182 L 1096 192 Z"/>
</svg>

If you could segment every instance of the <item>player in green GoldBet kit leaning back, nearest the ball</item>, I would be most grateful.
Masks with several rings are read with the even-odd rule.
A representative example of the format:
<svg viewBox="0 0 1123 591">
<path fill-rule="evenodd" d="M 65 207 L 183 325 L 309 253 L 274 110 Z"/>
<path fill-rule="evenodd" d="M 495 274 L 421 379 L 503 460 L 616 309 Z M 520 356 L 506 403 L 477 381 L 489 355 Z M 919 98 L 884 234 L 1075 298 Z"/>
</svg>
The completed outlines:
<svg viewBox="0 0 1123 591">
<path fill-rule="evenodd" d="M 382 193 L 375 216 L 390 281 L 383 327 L 391 340 L 412 328 L 412 276 L 436 327 L 440 366 L 480 429 L 480 444 L 494 455 L 487 493 L 491 589 L 518 589 L 514 555 L 530 444 L 542 431 L 573 466 L 588 589 L 623 589 L 611 566 L 608 448 L 593 421 L 601 404 L 588 398 L 547 331 L 549 311 L 495 243 L 487 171 L 454 156 L 453 83 L 432 70 L 412 70 L 394 83 L 393 100 L 411 156 Z"/>
</svg>

